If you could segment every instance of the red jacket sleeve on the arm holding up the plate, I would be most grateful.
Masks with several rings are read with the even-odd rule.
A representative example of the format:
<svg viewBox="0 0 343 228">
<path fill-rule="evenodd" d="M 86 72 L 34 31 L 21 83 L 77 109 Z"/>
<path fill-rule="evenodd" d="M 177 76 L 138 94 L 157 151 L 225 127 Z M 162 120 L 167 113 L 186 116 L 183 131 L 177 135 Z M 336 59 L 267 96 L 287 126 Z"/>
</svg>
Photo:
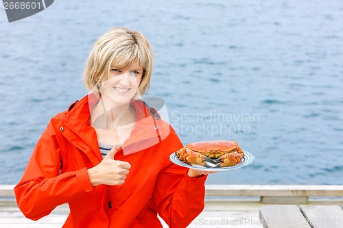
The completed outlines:
<svg viewBox="0 0 343 228">
<path fill-rule="evenodd" d="M 188 168 L 167 160 L 166 168 L 156 180 L 153 193 L 156 210 L 172 228 L 187 227 L 204 210 L 207 176 L 189 177 L 187 172 Z"/>
</svg>

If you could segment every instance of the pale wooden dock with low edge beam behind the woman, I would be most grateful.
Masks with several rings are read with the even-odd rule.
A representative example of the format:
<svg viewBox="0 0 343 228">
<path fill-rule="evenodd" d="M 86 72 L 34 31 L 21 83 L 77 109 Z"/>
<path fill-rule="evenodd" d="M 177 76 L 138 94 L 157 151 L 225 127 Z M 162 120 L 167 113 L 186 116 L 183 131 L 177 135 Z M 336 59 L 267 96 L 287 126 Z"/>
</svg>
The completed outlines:
<svg viewBox="0 0 343 228">
<path fill-rule="evenodd" d="M 0 186 L 0 227 L 62 227 L 69 213 L 67 204 L 35 222 L 16 206 L 13 188 Z M 342 205 L 343 186 L 207 185 L 204 211 L 189 227 L 261 228 L 259 210 L 270 204 Z"/>
</svg>

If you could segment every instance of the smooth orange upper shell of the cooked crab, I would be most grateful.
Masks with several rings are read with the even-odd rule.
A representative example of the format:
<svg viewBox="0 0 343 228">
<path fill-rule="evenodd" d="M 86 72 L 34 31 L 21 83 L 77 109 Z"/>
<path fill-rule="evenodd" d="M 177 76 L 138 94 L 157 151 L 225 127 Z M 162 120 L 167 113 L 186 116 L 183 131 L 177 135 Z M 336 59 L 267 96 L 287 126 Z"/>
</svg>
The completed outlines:
<svg viewBox="0 0 343 228">
<path fill-rule="evenodd" d="M 193 142 L 187 144 L 187 149 L 201 153 L 209 158 L 218 158 L 226 153 L 237 152 L 244 157 L 244 152 L 238 147 L 235 141 L 217 140 Z"/>
</svg>

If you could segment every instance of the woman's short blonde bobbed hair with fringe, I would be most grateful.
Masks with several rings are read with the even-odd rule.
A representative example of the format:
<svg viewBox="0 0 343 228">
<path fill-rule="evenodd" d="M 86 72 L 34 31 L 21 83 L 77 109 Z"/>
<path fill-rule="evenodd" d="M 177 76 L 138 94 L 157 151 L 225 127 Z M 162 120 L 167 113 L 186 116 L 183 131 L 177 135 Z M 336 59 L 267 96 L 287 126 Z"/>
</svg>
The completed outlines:
<svg viewBox="0 0 343 228">
<path fill-rule="evenodd" d="M 126 68 L 137 61 L 143 69 L 139 92 L 149 90 L 154 67 L 154 54 L 147 39 L 139 31 L 119 27 L 110 29 L 95 42 L 84 70 L 84 84 L 97 92 L 108 79 L 110 68 Z"/>
</svg>

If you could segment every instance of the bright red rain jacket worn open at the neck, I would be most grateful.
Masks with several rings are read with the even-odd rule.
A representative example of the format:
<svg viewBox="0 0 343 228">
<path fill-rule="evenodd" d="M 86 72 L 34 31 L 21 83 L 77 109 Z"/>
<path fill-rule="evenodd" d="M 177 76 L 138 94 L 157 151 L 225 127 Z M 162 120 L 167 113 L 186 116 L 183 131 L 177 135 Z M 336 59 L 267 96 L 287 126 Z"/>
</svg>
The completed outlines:
<svg viewBox="0 0 343 228">
<path fill-rule="evenodd" d="M 14 188 L 23 214 L 38 220 L 69 203 L 63 227 L 162 227 L 157 214 L 169 227 L 187 227 L 204 208 L 206 176 L 189 177 L 188 168 L 169 161 L 182 143 L 141 100 L 131 103 L 138 121 L 115 154 L 131 164 L 125 183 L 92 186 L 86 170 L 102 161 L 89 124 L 95 102 L 86 96 L 51 118 Z"/>
</svg>

